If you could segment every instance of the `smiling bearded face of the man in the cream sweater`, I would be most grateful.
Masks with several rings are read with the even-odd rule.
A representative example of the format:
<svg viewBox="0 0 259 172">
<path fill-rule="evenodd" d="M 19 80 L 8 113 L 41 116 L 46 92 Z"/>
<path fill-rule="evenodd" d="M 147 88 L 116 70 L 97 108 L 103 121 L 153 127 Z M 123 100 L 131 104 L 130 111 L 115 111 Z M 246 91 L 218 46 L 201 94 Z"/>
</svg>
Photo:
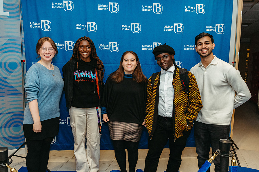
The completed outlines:
<svg viewBox="0 0 259 172">
<path fill-rule="evenodd" d="M 197 53 L 201 56 L 201 58 L 213 56 L 212 50 L 214 49 L 215 44 L 211 42 L 209 36 L 204 36 L 197 41 L 197 45 L 195 47 Z"/>
</svg>

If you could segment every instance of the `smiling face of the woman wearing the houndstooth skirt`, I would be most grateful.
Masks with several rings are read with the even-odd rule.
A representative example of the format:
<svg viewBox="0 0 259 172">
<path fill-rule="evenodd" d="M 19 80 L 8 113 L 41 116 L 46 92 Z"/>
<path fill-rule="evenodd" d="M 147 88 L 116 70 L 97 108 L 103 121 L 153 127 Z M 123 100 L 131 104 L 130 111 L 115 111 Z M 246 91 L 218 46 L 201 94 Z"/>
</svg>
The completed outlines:
<svg viewBox="0 0 259 172">
<path fill-rule="evenodd" d="M 134 56 L 131 53 L 127 53 L 123 57 L 122 66 L 123 66 L 125 74 L 127 74 L 127 75 L 132 74 L 134 72 L 134 70 L 136 69 L 137 64 L 138 64 L 138 62 L 136 60 L 136 56 Z"/>
</svg>

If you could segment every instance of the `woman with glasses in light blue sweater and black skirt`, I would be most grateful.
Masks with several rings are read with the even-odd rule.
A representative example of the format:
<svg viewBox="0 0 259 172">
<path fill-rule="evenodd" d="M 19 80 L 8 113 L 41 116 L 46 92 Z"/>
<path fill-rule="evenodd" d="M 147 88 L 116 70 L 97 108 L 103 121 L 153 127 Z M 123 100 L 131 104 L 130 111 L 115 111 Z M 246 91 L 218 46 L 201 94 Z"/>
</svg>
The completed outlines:
<svg viewBox="0 0 259 172">
<path fill-rule="evenodd" d="M 28 104 L 24 110 L 23 130 L 28 153 L 28 172 L 46 172 L 49 147 L 58 134 L 59 101 L 64 87 L 58 67 L 52 58 L 58 54 L 54 41 L 49 37 L 38 40 L 36 53 L 40 60 L 26 73 L 24 89 Z"/>
</svg>

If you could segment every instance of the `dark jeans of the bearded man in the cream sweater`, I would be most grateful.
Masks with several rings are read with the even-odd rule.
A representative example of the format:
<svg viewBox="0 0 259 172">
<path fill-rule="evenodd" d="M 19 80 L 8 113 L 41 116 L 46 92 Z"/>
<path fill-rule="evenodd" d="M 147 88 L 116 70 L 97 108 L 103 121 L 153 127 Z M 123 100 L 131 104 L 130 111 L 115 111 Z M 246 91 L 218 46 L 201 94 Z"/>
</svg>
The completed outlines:
<svg viewBox="0 0 259 172">
<path fill-rule="evenodd" d="M 202 122 L 194 121 L 194 138 L 196 144 L 196 153 L 198 154 L 198 166 L 201 166 L 209 159 L 210 145 L 212 152 L 219 149 L 219 140 L 228 139 L 230 125 L 214 125 L 204 124 Z M 216 156 L 214 160 L 215 172 L 219 172 L 220 156 Z M 210 172 L 210 169 L 207 170 Z"/>
</svg>

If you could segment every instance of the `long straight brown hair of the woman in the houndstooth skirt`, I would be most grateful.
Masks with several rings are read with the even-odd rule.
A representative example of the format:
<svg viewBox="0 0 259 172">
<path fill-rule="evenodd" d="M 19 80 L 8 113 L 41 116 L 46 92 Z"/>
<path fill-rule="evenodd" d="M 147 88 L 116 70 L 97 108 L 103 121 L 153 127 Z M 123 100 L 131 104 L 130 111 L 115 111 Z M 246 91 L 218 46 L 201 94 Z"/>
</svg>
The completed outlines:
<svg viewBox="0 0 259 172">
<path fill-rule="evenodd" d="M 124 56 L 128 53 L 133 54 L 136 57 L 136 61 L 138 62 L 138 65 L 133 72 L 133 80 L 136 81 L 137 83 L 147 82 L 147 78 L 142 72 L 142 69 L 141 69 L 141 66 L 140 66 L 140 61 L 138 59 L 138 55 L 133 51 L 126 51 L 122 54 L 119 68 L 117 69 L 117 71 L 114 71 L 113 73 L 110 74 L 111 79 L 115 83 L 120 83 L 121 81 L 123 81 L 124 69 L 122 67 L 122 62 L 123 62 Z"/>
</svg>

